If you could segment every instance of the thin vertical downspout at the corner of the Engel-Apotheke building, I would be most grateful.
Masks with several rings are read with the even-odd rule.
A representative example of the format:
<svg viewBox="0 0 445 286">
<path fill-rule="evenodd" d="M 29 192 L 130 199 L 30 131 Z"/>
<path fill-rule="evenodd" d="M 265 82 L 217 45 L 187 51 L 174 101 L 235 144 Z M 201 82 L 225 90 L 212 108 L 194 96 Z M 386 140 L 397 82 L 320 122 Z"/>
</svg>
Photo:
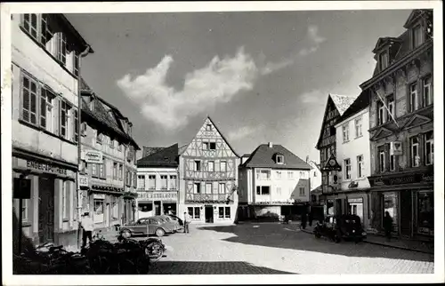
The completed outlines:
<svg viewBox="0 0 445 286">
<path fill-rule="evenodd" d="M 90 53 L 91 46 L 89 44 L 86 45 L 85 51 L 79 54 L 79 67 L 77 73 L 77 173 L 76 173 L 76 181 L 77 181 L 77 247 L 80 247 L 80 219 L 81 219 L 81 211 L 82 211 L 82 192 L 80 191 L 80 168 L 82 164 L 81 154 L 82 154 L 82 136 L 80 134 L 81 124 L 82 124 L 82 58 L 84 58 L 88 53 Z"/>
</svg>

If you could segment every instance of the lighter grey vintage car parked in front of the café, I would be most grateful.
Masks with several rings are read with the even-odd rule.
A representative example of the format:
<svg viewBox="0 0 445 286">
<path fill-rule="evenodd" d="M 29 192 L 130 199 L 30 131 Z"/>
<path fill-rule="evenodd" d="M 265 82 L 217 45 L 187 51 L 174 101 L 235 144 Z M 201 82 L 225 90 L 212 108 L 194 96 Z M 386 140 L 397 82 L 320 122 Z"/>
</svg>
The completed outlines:
<svg viewBox="0 0 445 286">
<path fill-rule="evenodd" d="M 137 221 L 125 226 L 121 226 L 119 234 L 124 238 L 129 238 L 137 234 L 150 235 L 156 234 L 158 237 L 164 234 L 173 234 L 174 225 L 166 223 L 165 220 L 158 217 L 139 218 Z"/>
</svg>

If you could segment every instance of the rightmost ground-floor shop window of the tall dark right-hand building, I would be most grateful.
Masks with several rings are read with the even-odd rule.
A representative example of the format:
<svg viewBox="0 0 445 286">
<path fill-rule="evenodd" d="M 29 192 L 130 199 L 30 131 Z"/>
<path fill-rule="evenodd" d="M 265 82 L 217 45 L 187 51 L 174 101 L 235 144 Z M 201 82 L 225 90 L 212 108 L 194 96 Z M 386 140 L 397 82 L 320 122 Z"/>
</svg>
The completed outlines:
<svg viewBox="0 0 445 286">
<path fill-rule="evenodd" d="M 421 234 L 431 234 L 434 230 L 433 192 L 418 192 L 417 208 L 417 231 Z"/>
</svg>

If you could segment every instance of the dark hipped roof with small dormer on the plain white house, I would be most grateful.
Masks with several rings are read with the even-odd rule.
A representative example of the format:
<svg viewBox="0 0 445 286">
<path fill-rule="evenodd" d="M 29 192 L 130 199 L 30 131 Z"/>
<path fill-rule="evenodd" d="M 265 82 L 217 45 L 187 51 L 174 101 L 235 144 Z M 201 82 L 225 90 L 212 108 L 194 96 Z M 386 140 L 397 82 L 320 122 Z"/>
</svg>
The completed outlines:
<svg viewBox="0 0 445 286">
<path fill-rule="evenodd" d="M 278 164 L 273 160 L 277 153 L 284 155 L 284 163 Z M 273 168 L 273 169 L 299 169 L 311 170 L 311 166 L 305 163 L 300 157 L 287 150 L 281 145 L 262 144 L 256 147 L 255 151 L 250 155 L 243 164 L 247 168 Z"/>
</svg>

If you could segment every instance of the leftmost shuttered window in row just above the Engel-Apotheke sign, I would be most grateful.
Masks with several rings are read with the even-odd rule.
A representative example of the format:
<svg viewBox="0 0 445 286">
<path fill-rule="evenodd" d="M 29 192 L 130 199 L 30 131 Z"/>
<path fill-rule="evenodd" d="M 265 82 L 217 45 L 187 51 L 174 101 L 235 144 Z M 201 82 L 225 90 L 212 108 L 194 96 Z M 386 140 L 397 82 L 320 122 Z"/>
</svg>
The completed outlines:
<svg viewBox="0 0 445 286">
<path fill-rule="evenodd" d="M 34 15 L 34 14 L 33 14 Z M 37 82 L 27 75 L 22 78 L 21 119 L 27 123 L 37 124 Z"/>
</svg>

